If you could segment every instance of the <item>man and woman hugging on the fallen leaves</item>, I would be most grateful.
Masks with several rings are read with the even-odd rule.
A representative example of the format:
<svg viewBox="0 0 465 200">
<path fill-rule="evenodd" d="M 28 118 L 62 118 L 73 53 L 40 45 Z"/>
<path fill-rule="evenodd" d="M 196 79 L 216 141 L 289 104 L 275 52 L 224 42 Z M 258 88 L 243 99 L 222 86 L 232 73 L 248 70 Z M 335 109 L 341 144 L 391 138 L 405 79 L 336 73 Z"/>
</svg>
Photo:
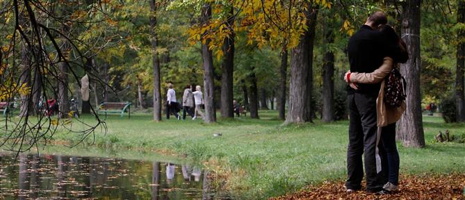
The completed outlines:
<svg viewBox="0 0 465 200">
<path fill-rule="evenodd" d="M 375 12 L 348 42 L 350 111 L 347 153 L 347 192 L 361 190 L 366 173 L 366 192 L 386 194 L 398 190 L 399 153 L 395 146 L 395 122 L 405 111 L 385 103 L 385 78 L 398 63 L 407 62 L 407 47 L 386 25 L 384 12 Z M 365 165 L 361 156 L 364 156 Z"/>
</svg>

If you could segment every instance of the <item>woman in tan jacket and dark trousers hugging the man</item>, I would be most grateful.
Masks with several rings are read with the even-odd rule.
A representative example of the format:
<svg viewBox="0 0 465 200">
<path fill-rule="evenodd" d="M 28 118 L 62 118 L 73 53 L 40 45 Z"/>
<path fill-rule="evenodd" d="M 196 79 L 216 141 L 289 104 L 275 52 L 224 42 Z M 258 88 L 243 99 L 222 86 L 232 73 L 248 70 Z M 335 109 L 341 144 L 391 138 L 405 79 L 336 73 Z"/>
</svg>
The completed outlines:
<svg viewBox="0 0 465 200">
<path fill-rule="evenodd" d="M 381 142 L 384 151 L 386 151 L 387 167 L 388 167 L 388 183 L 384 185 L 384 190 L 389 192 L 398 190 L 398 176 L 399 176 L 399 153 L 395 144 L 395 122 L 397 122 L 402 113 L 405 111 L 405 101 L 399 107 L 390 106 L 384 102 L 385 94 L 385 81 L 386 76 L 394 67 L 398 67 L 398 63 L 405 63 L 408 60 L 407 47 L 405 43 L 400 40 L 399 36 L 395 33 L 394 29 L 389 25 L 380 26 L 380 31 L 386 35 L 389 42 L 393 42 L 398 45 L 398 51 L 391 53 L 395 58 L 385 57 L 383 64 L 380 68 L 376 69 L 371 73 L 357 73 L 348 71 L 344 79 L 350 84 L 350 87 L 357 89 L 357 83 L 375 84 L 381 82 L 380 92 L 376 100 L 376 111 L 377 111 L 377 126 L 378 126 L 378 137 L 377 143 Z M 379 156 L 377 149 L 377 157 Z M 377 161 L 380 158 L 377 158 Z M 381 165 L 377 162 L 377 165 Z M 384 165 L 386 166 L 386 165 Z"/>
</svg>

